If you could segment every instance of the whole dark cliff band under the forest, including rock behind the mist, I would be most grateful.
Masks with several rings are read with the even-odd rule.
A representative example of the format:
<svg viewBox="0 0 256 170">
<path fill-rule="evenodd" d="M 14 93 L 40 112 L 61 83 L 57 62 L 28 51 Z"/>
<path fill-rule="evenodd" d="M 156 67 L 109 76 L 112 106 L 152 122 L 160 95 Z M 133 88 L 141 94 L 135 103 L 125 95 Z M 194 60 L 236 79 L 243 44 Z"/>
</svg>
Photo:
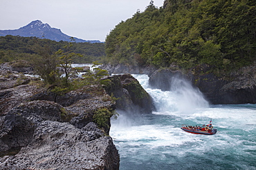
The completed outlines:
<svg viewBox="0 0 256 170">
<path fill-rule="evenodd" d="M 198 87 L 212 104 L 256 103 L 256 63 L 225 76 L 209 72 L 207 65 L 201 65 L 194 72 L 181 72 L 170 68 L 157 70 L 150 76 L 149 84 L 163 90 L 172 86 L 172 77 L 185 78 Z"/>
</svg>

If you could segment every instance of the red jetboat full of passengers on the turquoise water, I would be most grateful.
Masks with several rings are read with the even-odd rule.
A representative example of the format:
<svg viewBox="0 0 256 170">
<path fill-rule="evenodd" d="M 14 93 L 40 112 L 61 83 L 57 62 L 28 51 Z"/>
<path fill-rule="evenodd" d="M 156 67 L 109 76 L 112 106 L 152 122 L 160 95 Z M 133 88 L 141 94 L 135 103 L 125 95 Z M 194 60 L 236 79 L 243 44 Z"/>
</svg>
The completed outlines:
<svg viewBox="0 0 256 170">
<path fill-rule="evenodd" d="M 217 129 L 213 129 L 212 126 L 212 120 L 210 120 L 210 123 L 208 125 L 203 125 L 201 126 L 188 126 L 188 125 L 183 125 L 181 127 L 183 131 L 186 131 L 191 134 L 201 134 L 201 135 L 214 135 L 217 133 Z"/>
</svg>

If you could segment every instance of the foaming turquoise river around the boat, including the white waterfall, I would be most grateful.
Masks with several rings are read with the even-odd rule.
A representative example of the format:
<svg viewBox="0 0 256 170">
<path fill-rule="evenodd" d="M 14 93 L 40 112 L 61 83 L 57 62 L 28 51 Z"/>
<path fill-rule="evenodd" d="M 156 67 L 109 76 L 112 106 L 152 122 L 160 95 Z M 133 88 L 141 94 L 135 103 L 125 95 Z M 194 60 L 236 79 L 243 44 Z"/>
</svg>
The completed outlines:
<svg viewBox="0 0 256 170">
<path fill-rule="evenodd" d="M 148 86 L 147 76 L 136 78 L 154 98 L 157 111 L 140 116 L 119 111 L 118 119 L 111 120 L 121 170 L 256 169 L 256 105 L 209 105 L 189 84 L 161 92 Z M 207 124 L 210 118 L 218 129 L 215 135 L 180 129 Z"/>
</svg>

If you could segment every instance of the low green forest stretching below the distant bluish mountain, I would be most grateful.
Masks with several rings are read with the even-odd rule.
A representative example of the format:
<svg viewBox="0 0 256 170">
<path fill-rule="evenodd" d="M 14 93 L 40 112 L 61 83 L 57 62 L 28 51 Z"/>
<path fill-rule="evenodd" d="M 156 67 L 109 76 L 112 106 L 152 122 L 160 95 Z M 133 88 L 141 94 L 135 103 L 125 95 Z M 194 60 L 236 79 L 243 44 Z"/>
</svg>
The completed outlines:
<svg viewBox="0 0 256 170">
<path fill-rule="evenodd" d="M 49 39 L 39 39 L 37 37 L 23 36 L 0 36 L 0 63 L 15 60 L 35 59 L 42 54 L 42 50 L 47 48 L 50 54 L 58 50 L 65 50 L 68 45 L 66 41 L 51 41 Z M 104 43 L 73 43 L 70 50 L 82 57 L 74 59 L 73 63 L 92 63 L 100 60 L 104 53 Z"/>
</svg>

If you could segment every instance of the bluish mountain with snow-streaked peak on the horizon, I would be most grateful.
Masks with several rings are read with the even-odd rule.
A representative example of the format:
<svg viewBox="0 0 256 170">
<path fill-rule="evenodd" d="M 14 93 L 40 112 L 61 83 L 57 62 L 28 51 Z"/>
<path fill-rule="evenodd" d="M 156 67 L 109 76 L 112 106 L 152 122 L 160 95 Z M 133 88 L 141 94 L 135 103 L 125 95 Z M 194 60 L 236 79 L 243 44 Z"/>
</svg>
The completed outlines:
<svg viewBox="0 0 256 170">
<path fill-rule="evenodd" d="M 36 36 L 41 39 L 51 39 L 54 41 L 70 41 L 71 36 L 64 34 L 60 29 L 51 28 L 48 23 L 36 20 L 28 23 L 28 25 L 21 27 L 17 30 L 0 30 L 0 36 L 13 35 L 13 36 Z M 75 38 L 77 43 L 101 43 L 98 40 L 86 41 L 83 39 Z"/>
</svg>

